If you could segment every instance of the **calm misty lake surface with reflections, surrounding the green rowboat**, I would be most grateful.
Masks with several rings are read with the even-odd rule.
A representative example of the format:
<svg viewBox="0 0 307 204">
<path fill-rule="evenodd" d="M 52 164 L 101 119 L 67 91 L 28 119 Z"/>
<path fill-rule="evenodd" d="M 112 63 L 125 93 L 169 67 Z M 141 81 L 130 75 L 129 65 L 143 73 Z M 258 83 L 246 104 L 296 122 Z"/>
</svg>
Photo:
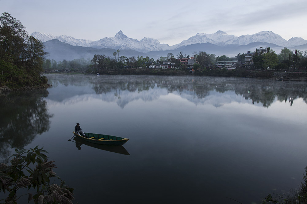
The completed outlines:
<svg viewBox="0 0 307 204">
<path fill-rule="evenodd" d="M 75 188 L 75 202 L 261 203 L 302 180 L 305 82 L 47 78 L 47 90 L 0 96 L 0 161 L 15 148 L 44 146 L 57 175 Z M 76 123 L 130 140 L 123 149 L 78 149 L 68 141 Z"/>
</svg>

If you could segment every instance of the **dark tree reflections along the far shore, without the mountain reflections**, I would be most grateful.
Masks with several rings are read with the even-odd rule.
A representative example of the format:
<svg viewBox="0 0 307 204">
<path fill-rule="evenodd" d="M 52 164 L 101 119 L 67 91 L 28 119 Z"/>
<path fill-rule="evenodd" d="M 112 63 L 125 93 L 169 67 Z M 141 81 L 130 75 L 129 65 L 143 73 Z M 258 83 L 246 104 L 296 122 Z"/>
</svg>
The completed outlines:
<svg viewBox="0 0 307 204">
<path fill-rule="evenodd" d="M 126 77 L 126 80 L 124 80 Z M 144 76 L 145 78 L 145 76 Z M 224 93 L 235 91 L 237 95 L 252 100 L 252 103 L 261 103 L 264 107 L 270 107 L 275 98 L 279 101 L 287 100 L 290 106 L 293 100 L 302 98 L 307 103 L 307 86 L 305 82 L 280 82 L 273 80 L 255 80 L 244 78 L 223 78 L 223 77 L 152 77 L 142 79 L 131 76 L 120 76 L 113 81 L 91 82 L 96 94 L 113 92 L 119 95 L 119 90 L 140 93 L 157 86 L 167 89 L 168 93 L 183 92 L 193 93 L 198 99 L 206 98 L 210 92 Z"/>
</svg>

